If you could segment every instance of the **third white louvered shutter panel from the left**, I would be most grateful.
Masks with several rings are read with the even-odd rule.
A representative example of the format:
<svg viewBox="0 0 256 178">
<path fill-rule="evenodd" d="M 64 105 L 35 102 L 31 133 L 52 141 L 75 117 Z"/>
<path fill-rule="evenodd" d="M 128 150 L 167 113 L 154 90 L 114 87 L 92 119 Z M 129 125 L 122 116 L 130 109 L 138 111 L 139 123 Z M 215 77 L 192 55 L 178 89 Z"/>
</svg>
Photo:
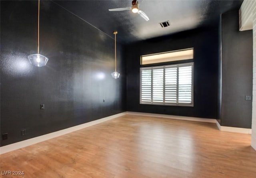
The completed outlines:
<svg viewBox="0 0 256 178">
<path fill-rule="evenodd" d="M 166 103 L 177 103 L 177 67 L 165 68 L 165 99 Z"/>
</svg>

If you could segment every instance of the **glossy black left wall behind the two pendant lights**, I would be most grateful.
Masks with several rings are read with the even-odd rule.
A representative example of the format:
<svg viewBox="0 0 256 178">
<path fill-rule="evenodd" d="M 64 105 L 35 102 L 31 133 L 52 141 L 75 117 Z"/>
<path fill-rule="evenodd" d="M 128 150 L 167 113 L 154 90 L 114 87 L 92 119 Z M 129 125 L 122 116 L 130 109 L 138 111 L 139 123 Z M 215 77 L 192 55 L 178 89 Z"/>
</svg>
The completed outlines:
<svg viewBox="0 0 256 178">
<path fill-rule="evenodd" d="M 113 38 L 55 3 L 41 1 L 40 53 L 49 61 L 46 67 L 35 67 L 27 56 L 37 53 L 37 1 L 0 3 L 1 146 L 126 111 L 126 69 L 119 44 L 121 77 L 111 77 Z M 26 129 L 25 136 L 21 129 Z M 2 140 L 3 133 L 8 133 L 7 140 Z"/>
</svg>

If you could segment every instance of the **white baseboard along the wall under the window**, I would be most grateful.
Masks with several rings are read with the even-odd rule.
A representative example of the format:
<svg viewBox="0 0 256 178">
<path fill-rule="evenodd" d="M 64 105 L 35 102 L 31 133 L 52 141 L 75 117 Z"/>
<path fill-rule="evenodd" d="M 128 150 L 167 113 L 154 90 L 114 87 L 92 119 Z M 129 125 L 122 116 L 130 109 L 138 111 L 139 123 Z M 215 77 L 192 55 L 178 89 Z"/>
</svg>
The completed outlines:
<svg viewBox="0 0 256 178">
<path fill-rule="evenodd" d="M 180 119 L 180 120 L 186 120 L 186 121 L 216 123 L 216 119 L 206 119 L 206 118 L 200 118 L 200 117 L 175 116 L 175 115 L 164 115 L 164 114 L 154 114 L 154 113 L 139 113 L 139 112 L 130 112 L 130 111 L 127 111 L 126 114 L 149 116 L 149 117 L 163 117 L 163 118 Z"/>
</svg>

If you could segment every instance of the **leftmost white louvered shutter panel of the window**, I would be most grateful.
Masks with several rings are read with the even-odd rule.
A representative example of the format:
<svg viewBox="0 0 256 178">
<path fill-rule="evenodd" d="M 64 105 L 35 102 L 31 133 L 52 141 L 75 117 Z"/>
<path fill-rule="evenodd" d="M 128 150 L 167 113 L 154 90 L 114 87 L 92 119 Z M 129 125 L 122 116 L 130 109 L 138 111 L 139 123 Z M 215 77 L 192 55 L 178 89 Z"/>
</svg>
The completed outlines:
<svg viewBox="0 0 256 178">
<path fill-rule="evenodd" d="M 151 69 L 141 71 L 141 101 L 151 103 Z"/>
</svg>

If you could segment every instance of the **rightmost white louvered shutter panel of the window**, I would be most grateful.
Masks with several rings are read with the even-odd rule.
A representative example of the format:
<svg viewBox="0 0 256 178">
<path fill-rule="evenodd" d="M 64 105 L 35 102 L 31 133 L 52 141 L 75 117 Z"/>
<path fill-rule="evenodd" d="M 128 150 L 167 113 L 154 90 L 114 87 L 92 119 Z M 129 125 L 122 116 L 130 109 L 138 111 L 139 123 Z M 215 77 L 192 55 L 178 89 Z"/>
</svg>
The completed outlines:
<svg viewBox="0 0 256 178">
<path fill-rule="evenodd" d="M 192 103 L 192 66 L 179 67 L 178 103 Z"/>
</svg>

